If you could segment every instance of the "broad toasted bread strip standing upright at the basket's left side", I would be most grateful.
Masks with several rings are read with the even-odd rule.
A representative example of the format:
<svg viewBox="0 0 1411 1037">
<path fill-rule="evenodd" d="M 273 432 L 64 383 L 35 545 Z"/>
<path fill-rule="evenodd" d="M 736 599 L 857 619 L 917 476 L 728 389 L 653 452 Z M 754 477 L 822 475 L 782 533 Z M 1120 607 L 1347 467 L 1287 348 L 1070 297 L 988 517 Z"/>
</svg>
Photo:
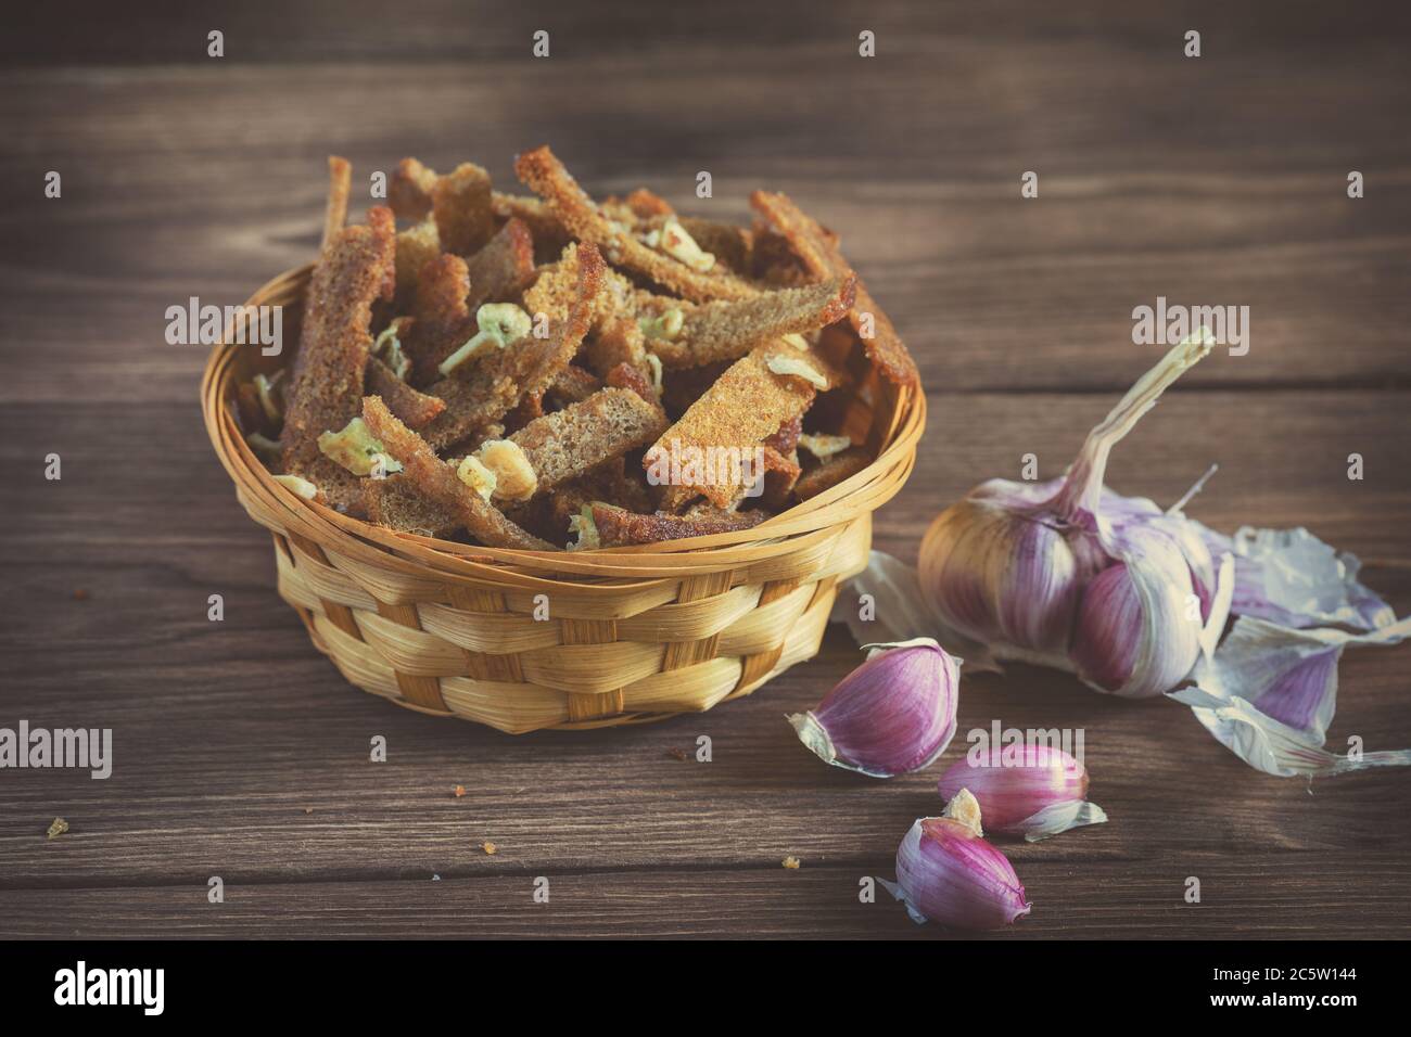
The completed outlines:
<svg viewBox="0 0 1411 1037">
<path fill-rule="evenodd" d="M 373 302 L 395 288 L 395 223 L 375 206 L 365 226 L 344 227 L 323 251 L 305 298 L 299 353 L 285 391 L 282 467 L 319 485 L 333 507 L 361 499 L 354 477 L 319 451 L 319 433 L 357 418 L 373 334 Z"/>
</svg>

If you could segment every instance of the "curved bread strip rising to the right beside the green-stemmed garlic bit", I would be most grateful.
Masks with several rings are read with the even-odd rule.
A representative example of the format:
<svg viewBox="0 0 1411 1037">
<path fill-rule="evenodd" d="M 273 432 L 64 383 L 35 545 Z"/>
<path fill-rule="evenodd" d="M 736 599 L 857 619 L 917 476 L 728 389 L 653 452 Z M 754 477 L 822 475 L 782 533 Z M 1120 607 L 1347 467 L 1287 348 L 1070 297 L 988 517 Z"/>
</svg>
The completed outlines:
<svg viewBox="0 0 1411 1037">
<path fill-rule="evenodd" d="M 588 332 L 602 285 L 602 257 L 591 244 L 577 247 L 577 298 L 566 320 L 550 325 L 547 339 L 528 334 L 494 350 L 470 365 L 435 382 L 429 392 L 446 401 L 446 413 L 426 426 L 426 440 L 440 449 L 504 418 L 526 394 L 543 394 L 569 365 Z"/>
</svg>

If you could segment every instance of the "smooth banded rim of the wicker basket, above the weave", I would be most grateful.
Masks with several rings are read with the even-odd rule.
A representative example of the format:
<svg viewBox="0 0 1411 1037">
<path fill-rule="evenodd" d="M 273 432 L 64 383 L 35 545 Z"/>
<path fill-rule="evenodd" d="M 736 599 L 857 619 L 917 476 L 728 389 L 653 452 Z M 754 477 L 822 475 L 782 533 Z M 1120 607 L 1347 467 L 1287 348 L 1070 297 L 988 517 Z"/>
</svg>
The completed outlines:
<svg viewBox="0 0 1411 1037">
<path fill-rule="evenodd" d="M 292 295 L 302 302 L 315 264 L 292 267 L 261 285 L 244 306 L 265 305 L 270 298 Z M 288 305 L 288 303 L 285 303 Z M 238 432 L 231 413 L 231 382 L 238 350 L 230 329 L 206 360 L 200 381 L 202 415 L 212 447 L 236 484 L 241 505 L 261 525 L 302 536 L 320 547 L 373 566 L 391 566 L 409 576 L 447 577 L 522 588 L 559 586 L 564 577 L 591 590 L 621 591 L 632 583 L 655 584 L 662 578 L 697 576 L 737 569 L 799 550 L 827 550 L 847 526 L 895 497 L 916 463 L 916 447 L 926 427 L 926 394 L 920 384 L 895 387 L 879 380 L 883 392 L 895 392 L 892 420 L 878 456 L 868 467 L 803 504 L 758 526 L 711 536 L 666 540 L 628 547 L 583 552 L 535 552 L 484 547 L 398 533 L 384 526 L 313 504 L 274 481 Z M 261 511 L 270 522 L 255 516 Z"/>
</svg>

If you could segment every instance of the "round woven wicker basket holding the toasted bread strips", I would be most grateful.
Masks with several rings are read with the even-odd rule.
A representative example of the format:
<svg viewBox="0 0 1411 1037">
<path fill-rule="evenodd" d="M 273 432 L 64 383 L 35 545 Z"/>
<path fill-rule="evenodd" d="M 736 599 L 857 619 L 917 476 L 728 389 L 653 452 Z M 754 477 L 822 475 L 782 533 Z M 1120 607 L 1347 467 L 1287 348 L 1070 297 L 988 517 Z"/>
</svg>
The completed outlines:
<svg viewBox="0 0 1411 1037">
<path fill-rule="evenodd" d="M 310 272 L 281 274 L 247 303 L 284 306 L 286 343 Z M 216 346 L 200 388 L 236 495 L 274 535 L 279 597 L 364 691 L 512 734 L 708 710 L 816 655 L 838 581 L 866 564 L 872 511 L 910 474 L 926 420 L 919 389 L 871 375 L 848 427 L 865 430 L 876 460 L 753 529 L 583 553 L 480 547 L 394 533 L 274 481 L 233 395 L 291 351 Z"/>
</svg>

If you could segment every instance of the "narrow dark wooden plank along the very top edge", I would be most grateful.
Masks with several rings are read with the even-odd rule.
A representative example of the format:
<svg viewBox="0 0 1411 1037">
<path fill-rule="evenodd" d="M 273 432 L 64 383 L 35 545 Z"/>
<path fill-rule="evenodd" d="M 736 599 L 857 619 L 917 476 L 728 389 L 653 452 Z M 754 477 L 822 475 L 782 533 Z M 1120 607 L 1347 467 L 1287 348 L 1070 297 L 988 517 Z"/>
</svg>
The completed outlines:
<svg viewBox="0 0 1411 1037">
<path fill-rule="evenodd" d="M 289 7 L 275 0 L 246 0 L 217 11 L 164 4 L 159 18 L 131 18 L 110 7 L 85 6 L 83 17 L 47 7 L 28 13 L 6 34 L 0 55 L 27 65 L 202 63 L 206 32 L 222 28 L 231 62 L 333 63 L 349 61 L 485 61 L 528 51 L 535 27 L 555 30 L 563 49 L 577 56 L 595 51 L 634 52 L 694 45 L 779 48 L 799 42 L 834 42 L 842 37 L 855 52 L 858 13 L 847 4 L 787 0 L 761 6 L 717 0 L 711 17 L 663 4 L 643 17 L 632 0 L 577 6 L 467 4 L 419 0 L 416 17 L 377 0 L 349 0 L 337 7 Z M 1280 17 L 1270 17 L 1278 14 Z M 66 17 L 68 16 L 68 17 Z M 219 23 L 219 24 L 217 24 Z M 1112 47 L 1168 49 L 1170 25 L 1206 25 L 1206 35 L 1239 52 L 1340 51 L 1387 42 L 1408 25 L 1405 10 L 1336 11 L 1321 6 L 1263 0 L 1230 6 L 1221 0 L 1171 0 L 1160 14 L 1122 0 L 1075 0 L 1062 10 L 1002 0 L 978 10 L 962 0 L 875 0 L 865 25 L 878 32 L 879 54 L 914 54 L 943 44 L 1048 40 L 1075 45 L 1099 38 Z M 1081 35 L 1075 34 L 1081 27 Z M 1184 31 L 1184 30 L 1182 30 Z M 1181 32 L 1175 34 L 1180 41 Z M 238 44 L 238 45 L 237 45 Z"/>
</svg>

